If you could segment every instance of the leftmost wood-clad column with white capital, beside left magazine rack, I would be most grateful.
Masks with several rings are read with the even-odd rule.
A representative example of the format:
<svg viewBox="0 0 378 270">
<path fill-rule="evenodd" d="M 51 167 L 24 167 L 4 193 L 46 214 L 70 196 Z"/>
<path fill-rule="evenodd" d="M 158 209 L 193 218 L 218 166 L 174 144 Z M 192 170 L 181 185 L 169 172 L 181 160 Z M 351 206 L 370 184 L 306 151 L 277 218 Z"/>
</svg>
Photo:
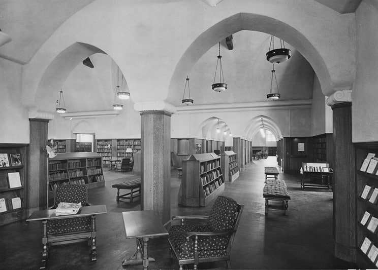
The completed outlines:
<svg viewBox="0 0 378 270">
<path fill-rule="evenodd" d="M 49 120 L 54 115 L 45 112 L 29 112 L 30 142 L 27 157 L 27 198 L 28 215 L 35 210 L 47 207 L 47 168 L 46 152 Z"/>
</svg>

